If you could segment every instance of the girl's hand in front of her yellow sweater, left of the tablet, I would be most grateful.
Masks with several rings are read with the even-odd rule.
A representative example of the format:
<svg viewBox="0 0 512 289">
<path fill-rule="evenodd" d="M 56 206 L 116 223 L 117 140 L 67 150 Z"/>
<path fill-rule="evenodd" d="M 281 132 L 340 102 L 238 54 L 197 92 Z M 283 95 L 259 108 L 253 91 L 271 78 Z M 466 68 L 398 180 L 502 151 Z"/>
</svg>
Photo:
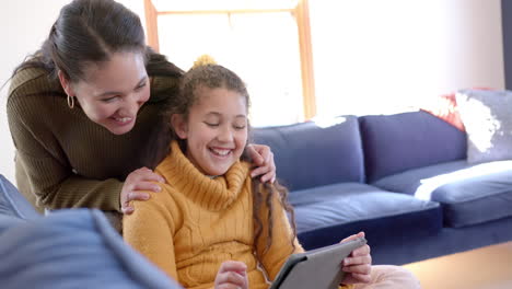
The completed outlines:
<svg viewBox="0 0 512 289">
<path fill-rule="evenodd" d="M 247 266 L 235 261 L 222 263 L 217 273 L 216 289 L 248 289 Z"/>
</svg>

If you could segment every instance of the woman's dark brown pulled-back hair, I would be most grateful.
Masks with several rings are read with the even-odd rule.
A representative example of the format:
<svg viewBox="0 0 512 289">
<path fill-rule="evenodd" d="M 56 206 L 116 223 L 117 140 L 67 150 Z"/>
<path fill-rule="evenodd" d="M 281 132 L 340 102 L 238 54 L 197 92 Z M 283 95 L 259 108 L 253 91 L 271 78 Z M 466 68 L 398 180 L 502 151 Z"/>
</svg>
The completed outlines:
<svg viewBox="0 0 512 289">
<path fill-rule="evenodd" d="M 84 80 L 90 63 L 107 61 L 117 51 L 143 54 L 150 76 L 182 74 L 164 56 L 146 46 L 139 16 L 114 0 L 73 0 L 65 5 L 42 48 L 13 74 L 36 67 L 47 70 L 51 79 L 57 79 L 60 70 L 77 82 Z"/>
</svg>

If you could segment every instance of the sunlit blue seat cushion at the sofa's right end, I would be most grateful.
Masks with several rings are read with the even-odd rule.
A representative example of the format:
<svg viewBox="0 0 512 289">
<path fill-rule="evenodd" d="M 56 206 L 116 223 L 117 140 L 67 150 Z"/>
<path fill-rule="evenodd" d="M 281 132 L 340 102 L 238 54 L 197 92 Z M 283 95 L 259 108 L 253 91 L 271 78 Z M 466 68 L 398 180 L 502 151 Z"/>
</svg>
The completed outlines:
<svg viewBox="0 0 512 289">
<path fill-rule="evenodd" d="M 441 204 L 444 224 L 461 228 L 512 216 L 512 161 L 442 163 L 373 183 Z"/>
</svg>

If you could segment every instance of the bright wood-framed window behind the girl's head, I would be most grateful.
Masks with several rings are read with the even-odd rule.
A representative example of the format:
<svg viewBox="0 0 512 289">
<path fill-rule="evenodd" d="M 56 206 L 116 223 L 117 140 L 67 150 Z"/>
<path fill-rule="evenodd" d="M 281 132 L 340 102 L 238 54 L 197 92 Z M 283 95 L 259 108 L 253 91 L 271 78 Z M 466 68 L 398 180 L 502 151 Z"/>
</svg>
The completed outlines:
<svg viewBox="0 0 512 289">
<path fill-rule="evenodd" d="M 160 53 L 184 70 L 208 54 L 235 71 L 251 94 L 253 126 L 304 119 L 296 2 L 153 0 L 153 4 Z"/>
</svg>

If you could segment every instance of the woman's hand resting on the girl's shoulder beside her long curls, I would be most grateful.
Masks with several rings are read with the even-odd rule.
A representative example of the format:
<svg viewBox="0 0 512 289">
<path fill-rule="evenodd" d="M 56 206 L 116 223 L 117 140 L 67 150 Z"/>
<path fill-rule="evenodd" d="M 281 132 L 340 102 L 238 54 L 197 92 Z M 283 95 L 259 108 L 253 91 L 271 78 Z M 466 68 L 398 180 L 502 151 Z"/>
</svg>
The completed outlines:
<svg viewBox="0 0 512 289">
<path fill-rule="evenodd" d="M 270 147 L 265 144 L 248 144 L 248 153 L 256 166 L 251 172 L 251 177 L 261 175 L 261 183 L 274 183 L 276 181 L 276 163 Z"/>
</svg>

